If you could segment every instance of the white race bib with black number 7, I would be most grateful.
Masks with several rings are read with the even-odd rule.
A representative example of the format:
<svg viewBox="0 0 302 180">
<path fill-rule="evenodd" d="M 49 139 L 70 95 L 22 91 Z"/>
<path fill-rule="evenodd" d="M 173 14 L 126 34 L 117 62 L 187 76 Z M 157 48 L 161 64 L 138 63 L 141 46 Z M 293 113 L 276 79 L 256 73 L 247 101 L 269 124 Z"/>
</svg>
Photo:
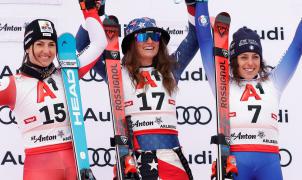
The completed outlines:
<svg viewBox="0 0 302 180">
<path fill-rule="evenodd" d="M 278 150 L 279 92 L 272 81 L 231 83 L 230 122 L 231 143 L 236 150 L 244 145 L 266 145 L 264 151 Z M 273 147 L 273 148 L 270 148 Z M 262 148 L 263 149 L 263 148 Z"/>
</svg>

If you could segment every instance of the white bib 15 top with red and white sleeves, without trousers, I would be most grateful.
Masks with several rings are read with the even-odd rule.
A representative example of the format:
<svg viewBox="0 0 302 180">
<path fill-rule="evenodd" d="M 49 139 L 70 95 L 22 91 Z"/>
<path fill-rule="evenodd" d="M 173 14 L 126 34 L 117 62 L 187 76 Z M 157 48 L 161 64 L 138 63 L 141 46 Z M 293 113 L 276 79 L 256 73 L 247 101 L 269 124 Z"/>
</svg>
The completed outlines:
<svg viewBox="0 0 302 180">
<path fill-rule="evenodd" d="M 78 57 L 80 77 L 94 66 L 107 45 L 96 10 L 83 14 L 91 43 Z M 52 151 L 72 141 L 60 70 L 43 81 L 24 74 L 1 79 L 0 105 L 14 110 L 26 151 Z"/>
</svg>

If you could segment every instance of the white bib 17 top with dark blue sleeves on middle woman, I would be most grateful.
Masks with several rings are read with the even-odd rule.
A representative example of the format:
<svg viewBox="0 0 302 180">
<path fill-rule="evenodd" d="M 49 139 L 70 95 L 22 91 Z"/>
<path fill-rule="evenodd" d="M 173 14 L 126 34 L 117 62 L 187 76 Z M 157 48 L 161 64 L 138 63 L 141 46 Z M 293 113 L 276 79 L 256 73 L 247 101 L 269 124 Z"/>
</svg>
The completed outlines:
<svg viewBox="0 0 302 180">
<path fill-rule="evenodd" d="M 189 62 L 193 59 L 198 50 L 198 44 L 196 41 L 196 32 L 194 27 L 194 14 L 195 9 L 188 6 L 189 12 L 189 31 L 186 38 L 179 45 L 177 50 L 171 55 L 177 60 L 179 67 L 173 71 L 173 76 L 176 82 L 180 79 L 181 73 L 184 71 Z M 192 22 L 193 21 L 193 22 Z M 77 49 L 82 50 L 89 43 L 89 38 L 85 27 L 80 27 L 77 33 Z M 94 70 L 100 74 L 105 81 L 107 75 L 105 71 L 104 57 L 97 62 Z M 177 119 L 176 119 L 176 107 L 175 107 L 175 95 L 171 96 L 164 90 L 161 81 L 161 75 L 154 71 L 153 67 L 142 67 L 141 73 L 148 82 L 151 84 L 145 84 L 146 87 L 138 88 L 132 84 L 128 72 L 123 69 L 123 85 L 124 85 L 124 99 L 125 99 L 125 113 L 126 116 L 131 116 L 133 122 L 134 135 L 139 135 L 139 142 L 135 142 L 135 146 L 138 149 L 164 149 L 178 146 L 177 139 Z M 160 138 L 167 138 L 169 140 L 160 141 Z M 171 139 L 170 139 L 171 138 Z M 145 146 L 140 142 L 154 142 Z M 167 144 L 170 143 L 171 144 Z M 155 145 L 156 144 L 156 145 Z M 143 148 L 144 146 L 145 148 Z"/>
</svg>

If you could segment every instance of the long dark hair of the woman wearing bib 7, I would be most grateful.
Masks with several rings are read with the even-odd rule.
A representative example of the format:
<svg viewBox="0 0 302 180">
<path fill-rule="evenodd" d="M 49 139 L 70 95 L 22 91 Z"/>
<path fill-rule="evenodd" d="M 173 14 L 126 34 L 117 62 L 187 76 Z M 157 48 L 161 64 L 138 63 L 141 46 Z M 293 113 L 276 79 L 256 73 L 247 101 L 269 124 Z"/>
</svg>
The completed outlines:
<svg viewBox="0 0 302 180">
<path fill-rule="evenodd" d="M 231 67 L 233 80 L 235 80 L 236 83 L 240 85 L 242 79 L 238 72 L 239 65 L 238 65 L 237 57 L 230 59 L 230 67 Z M 262 58 L 260 59 L 260 69 L 258 75 L 260 77 L 257 79 L 259 79 L 261 82 L 264 82 L 268 79 L 268 69 Z"/>
</svg>

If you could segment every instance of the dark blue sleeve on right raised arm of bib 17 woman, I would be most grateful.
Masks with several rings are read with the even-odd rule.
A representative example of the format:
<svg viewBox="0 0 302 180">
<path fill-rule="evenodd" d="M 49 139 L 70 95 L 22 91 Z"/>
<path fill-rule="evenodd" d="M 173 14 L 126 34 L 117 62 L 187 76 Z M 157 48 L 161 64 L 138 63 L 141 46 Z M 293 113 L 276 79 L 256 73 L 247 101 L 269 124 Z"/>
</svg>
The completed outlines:
<svg viewBox="0 0 302 180">
<path fill-rule="evenodd" d="M 177 60 L 178 64 L 177 68 L 173 72 L 177 83 L 180 79 L 180 75 L 183 73 L 198 51 L 195 27 L 191 23 L 188 24 L 189 30 L 186 38 L 180 43 L 176 51 L 171 55 Z"/>
</svg>

